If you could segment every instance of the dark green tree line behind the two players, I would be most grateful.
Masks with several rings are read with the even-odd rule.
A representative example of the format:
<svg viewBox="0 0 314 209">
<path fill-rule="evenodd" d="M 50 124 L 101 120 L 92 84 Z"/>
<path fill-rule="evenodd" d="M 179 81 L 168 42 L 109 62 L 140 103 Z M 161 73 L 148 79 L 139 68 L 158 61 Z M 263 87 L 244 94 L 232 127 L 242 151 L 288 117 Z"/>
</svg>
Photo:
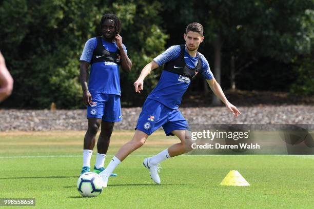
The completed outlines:
<svg viewBox="0 0 314 209">
<path fill-rule="evenodd" d="M 15 82 L 2 106 L 83 108 L 79 58 L 86 40 L 100 34 L 104 13 L 120 17 L 133 62 L 129 74 L 121 73 L 125 107 L 142 105 L 162 68 L 147 77 L 141 95 L 133 82 L 156 55 L 184 44 L 192 22 L 204 27 L 199 51 L 223 89 L 314 95 L 314 0 L 4 0 L 0 50 Z M 208 91 L 202 76 L 188 91 Z"/>
</svg>

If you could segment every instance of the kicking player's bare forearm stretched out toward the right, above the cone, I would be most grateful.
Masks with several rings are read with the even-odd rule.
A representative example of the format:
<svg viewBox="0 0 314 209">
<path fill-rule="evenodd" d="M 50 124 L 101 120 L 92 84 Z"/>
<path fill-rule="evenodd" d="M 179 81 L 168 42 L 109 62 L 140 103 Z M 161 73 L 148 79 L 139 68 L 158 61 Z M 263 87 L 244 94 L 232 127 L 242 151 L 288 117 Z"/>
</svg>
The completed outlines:
<svg viewBox="0 0 314 209">
<path fill-rule="evenodd" d="M 238 110 L 237 107 L 232 105 L 228 99 L 226 98 L 223 90 L 221 89 L 219 83 L 216 81 L 216 79 L 206 79 L 211 91 L 220 99 L 222 102 L 225 103 L 226 107 L 229 109 L 230 112 L 233 113 L 234 117 L 238 117 L 241 112 Z"/>
</svg>

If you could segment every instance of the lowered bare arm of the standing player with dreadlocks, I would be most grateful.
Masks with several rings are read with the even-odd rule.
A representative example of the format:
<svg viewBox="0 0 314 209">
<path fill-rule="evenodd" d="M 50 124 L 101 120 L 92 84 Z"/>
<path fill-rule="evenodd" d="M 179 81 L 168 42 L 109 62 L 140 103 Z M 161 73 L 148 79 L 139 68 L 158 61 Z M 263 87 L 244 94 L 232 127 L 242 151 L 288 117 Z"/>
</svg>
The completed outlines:
<svg viewBox="0 0 314 209">
<path fill-rule="evenodd" d="M 91 98 L 91 94 L 88 91 L 88 85 L 87 85 L 88 67 L 89 67 L 89 62 L 80 61 L 80 82 L 81 82 L 82 91 L 83 91 L 83 102 L 85 105 L 90 106 L 92 98 Z"/>
</svg>

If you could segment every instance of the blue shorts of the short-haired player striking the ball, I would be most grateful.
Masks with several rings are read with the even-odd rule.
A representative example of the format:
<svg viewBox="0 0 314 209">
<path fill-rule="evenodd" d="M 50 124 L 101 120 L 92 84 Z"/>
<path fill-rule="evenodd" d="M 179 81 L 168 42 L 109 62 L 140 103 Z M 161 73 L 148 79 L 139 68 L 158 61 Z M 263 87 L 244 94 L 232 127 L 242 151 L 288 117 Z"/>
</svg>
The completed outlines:
<svg viewBox="0 0 314 209">
<path fill-rule="evenodd" d="M 136 129 L 150 135 L 163 127 L 167 136 L 174 130 L 190 130 L 189 124 L 179 110 L 173 110 L 159 101 L 146 99 Z"/>
</svg>

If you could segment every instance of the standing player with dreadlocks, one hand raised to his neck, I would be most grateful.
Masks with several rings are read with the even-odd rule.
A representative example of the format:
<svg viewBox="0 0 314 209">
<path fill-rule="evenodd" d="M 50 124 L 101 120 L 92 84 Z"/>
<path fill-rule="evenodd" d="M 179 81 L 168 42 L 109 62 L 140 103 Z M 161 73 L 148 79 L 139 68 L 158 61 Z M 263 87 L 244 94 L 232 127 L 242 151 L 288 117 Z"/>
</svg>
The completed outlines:
<svg viewBox="0 0 314 209">
<path fill-rule="evenodd" d="M 95 136 L 100 126 L 101 133 L 97 141 L 97 156 L 93 171 L 100 173 L 105 169 L 104 162 L 114 122 L 122 119 L 119 67 L 121 65 L 125 72 L 130 72 L 132 67 L 122 37 L 119 35 L 120 19 L 114 14 L 105 14 L 101 18 L 100 27 L 102 36 L 87 40 L 80 58 L 80 81 L 88 118 L 81 175 L 90 171 Z M 89 65 L 91 69 L 87 85 Z"/>
</svg>

